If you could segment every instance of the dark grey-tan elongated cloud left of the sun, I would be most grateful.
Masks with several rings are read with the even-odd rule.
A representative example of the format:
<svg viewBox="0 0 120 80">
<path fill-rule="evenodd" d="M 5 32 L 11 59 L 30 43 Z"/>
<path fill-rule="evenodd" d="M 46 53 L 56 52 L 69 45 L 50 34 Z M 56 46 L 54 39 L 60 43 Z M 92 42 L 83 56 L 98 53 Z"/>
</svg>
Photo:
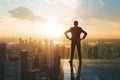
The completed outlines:
<svg viewBox="0 0 120 80">
<path fill-rule="evenodd" d="M 33 12 L 25 7 L 18 7 L 13 10 L 10 10 L 9 13 L 12 17 L 21 19 L 21 20 L 28 20 L 32 22 L 47 22 L 47 20 L 41 16 L 36 16 Z"/>
</svg>

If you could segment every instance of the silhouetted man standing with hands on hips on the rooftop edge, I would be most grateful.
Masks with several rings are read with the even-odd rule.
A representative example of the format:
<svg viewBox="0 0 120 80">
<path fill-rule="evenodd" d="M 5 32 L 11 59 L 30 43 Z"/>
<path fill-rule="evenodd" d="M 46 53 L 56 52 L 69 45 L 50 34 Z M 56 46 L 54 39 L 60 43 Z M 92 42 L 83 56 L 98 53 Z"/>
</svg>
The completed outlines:
<svg viewBox="0 0 120 80">
<path fill-rule="evenodd" d="M 68 33 L 71 33 L 71 38 L 68 36 Z M 81 38 L 81 33 L 84 34 L 82 38 Z M 66 38 L 71 40 L 71 58 L 69 63 L 72 63 L 73 61 L 75 46 L 77 46 L 79 62 L 82 64 L 80 41 L 85 39 L 86 35 L 87 32 L 85 32 L 81 27 L 78 26 L 78 21 L 74 21 L 74 27 L 71 27 L 69 30 L 65 31 Z"/>
</svg>

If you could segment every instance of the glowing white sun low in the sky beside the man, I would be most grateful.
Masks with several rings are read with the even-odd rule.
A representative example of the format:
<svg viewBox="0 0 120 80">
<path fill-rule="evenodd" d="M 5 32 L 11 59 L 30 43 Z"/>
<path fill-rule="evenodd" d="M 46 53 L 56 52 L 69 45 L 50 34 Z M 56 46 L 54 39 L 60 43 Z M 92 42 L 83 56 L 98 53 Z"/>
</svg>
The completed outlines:
<svg viewBox="0 0 120 80">
<path fill-rule="evenodd" d="M 44 25 L 44 34 L 50 38 L 58 37 L 63 34 L 62 28 L 57 24 L 57 22 L 50 20 Z"/>
</svg>

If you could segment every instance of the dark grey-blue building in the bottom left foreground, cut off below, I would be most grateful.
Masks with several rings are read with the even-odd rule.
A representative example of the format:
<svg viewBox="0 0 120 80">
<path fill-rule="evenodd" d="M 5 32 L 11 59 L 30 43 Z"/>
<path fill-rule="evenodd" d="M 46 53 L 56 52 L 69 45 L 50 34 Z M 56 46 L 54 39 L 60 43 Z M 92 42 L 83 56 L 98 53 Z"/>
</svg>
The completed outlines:
<svg viewBox="0 0 120 80">
<path fill-rule="evenodd" d="M 4 80 L 21 80 L 21 62 L 18 58 L 5 61 Z"/>
</svg>

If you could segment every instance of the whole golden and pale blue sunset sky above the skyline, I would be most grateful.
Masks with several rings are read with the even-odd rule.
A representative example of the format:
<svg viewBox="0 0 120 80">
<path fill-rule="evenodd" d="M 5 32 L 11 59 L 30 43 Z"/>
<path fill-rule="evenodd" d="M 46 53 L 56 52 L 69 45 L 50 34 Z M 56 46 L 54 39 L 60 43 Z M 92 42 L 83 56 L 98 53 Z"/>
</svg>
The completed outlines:
<svg viewBox="0 0 120 80">
<path fill-rule="evenodd" d="M 119 3 L 120 0 L 0 0 L 0 37 L 60 37 L 78 20 L 87 38 L 118 39 Z"/>
</svg>

